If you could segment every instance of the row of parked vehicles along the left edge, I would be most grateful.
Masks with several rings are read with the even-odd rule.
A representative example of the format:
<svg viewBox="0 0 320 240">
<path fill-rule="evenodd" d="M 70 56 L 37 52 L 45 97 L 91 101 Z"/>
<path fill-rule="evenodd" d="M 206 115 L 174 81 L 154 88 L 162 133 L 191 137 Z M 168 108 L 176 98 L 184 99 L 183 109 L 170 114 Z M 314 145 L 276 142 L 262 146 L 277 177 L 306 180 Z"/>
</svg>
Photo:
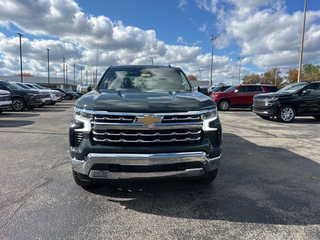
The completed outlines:
<svg viewBox="0 0 320 240">
<path fill-rule="evenodd" d="M 36 83 L 0 81 L 0 112 L 11 108 L 13 111 L 33 109 L 62 100 L 78 97 L 70 89 L 47 88 Z"/>
</svg>

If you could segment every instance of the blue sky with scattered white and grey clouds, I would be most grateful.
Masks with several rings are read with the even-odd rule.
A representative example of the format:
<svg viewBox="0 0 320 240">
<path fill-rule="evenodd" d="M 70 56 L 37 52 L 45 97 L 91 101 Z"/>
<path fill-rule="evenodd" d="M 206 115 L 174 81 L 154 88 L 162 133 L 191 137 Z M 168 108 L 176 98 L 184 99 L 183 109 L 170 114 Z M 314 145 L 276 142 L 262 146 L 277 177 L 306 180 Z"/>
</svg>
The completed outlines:
<svg viewBox="0 0 320 240">
<path fill-rule="evenodd" d="M 27 38 L 25 41 L 28 40 L 23 42 L 23 48 L 30 51 L 26 52 L 28 56 L 37 58 L 34 52 L 41 52 L 38 47 L 47 39 L 52 40 L 52 47 L 60 47 L 58 51 L 52 50 L 52 61 L 57 61 L 52 64 L 52 74 L 54 70 L 56 75 L 60 74 L 58 69 L 61 64 L 59 56 L 54 55 L 54 52 L 66 55 L 69 61 L 77 62 L 78 66 L 88 69 L 94 67 L 94 45 L 99 41 L 101 65 L 98 70 L 101 72 L 108 64 L 148 63 L 148 55 L 153 54 L 157 56 L 156 63 L 166 64 L 170 61 L 190 74 L 197 74 L 197 69 L 203 68 L 202 76 L 205 79 L 209 75 L 210 34 L 214 34 L 218 36 L 214 50 L 214 75 L 221 81 L 229 81 L 232 74 L 237 74 L 238 55 L 246 56 L 242 74 L 261 72 L 270 67 L 280 67 L 283 71 L 296 67 L 304 7 L 302 0 L 50 0 L 33 7 L 31 4 L 10 0 L 15 9 L 23 9 L 20 16 L 10 13 L 12 9 L 6 1 L 0 0 L 4 6 L 0 9 L 0 34 L 3 35 L 0 74 L 16 71 L 15 66 L 10 68 L 15 61 L 14 54 L 10 54 L 16 52 L 16 31 L 22 31 Z M 46 12 L 48 8 L 53 9 L 53 13 Z M 306 52 L 304 60 L 317 64 L 320 58 L 316 53 L 320 49 L 315 42 L 320 40 L 320 0 L 309 0 L 307 9 L 309 17 L 305 44 L 309 52 Z M 82 18 L 76 19 L 76 13 L 83 14 Z M 54 20 L 44 24 L 48 16 Z M 30 19 L 34 17 L 38 19 Z M 95 21 L 99 26 L 112 26 L 95 29 L 92 26 Z M 56 26 L 58 29 L 51 30 Z M 127 29 L 128 26 L 135 28 Z M 121 28 L 120 32 L 117 32 L 117 28 Z M 110 35 L 108 31 L 112 29 L 113 35 Z M 119 35 L 126 34 L 126 31 L 136 47 L 130 44 L 130 37 L 122 42 Z M 154 47 L 156 44 L 156 49 L 150 49 L 150 45 Z M 65 54 L 63 47 L 67 48 Z M 39 59 L 43 57 L 41 55 Z M 24 61 L 27 70 L 37 75 L 45 70 L 45 67 L 32 59 Z"/>
</svg>

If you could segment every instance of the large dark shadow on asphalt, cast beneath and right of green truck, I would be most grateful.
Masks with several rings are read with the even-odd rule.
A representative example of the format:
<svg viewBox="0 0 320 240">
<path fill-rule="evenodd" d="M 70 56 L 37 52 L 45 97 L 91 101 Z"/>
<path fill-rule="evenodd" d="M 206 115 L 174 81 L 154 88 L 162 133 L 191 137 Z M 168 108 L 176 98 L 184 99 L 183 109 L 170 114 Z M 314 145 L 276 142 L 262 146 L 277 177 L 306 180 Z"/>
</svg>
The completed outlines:
<svg viewBox="0 0 320 240">
<path fill-rule="evenodd" d="M 285 225 L 320 223 L 320 164 L 281 147 L 223 135 L 213 183 L 156 181 L 97 184 L 86 190 L 143 213 Z"/>
</svg>

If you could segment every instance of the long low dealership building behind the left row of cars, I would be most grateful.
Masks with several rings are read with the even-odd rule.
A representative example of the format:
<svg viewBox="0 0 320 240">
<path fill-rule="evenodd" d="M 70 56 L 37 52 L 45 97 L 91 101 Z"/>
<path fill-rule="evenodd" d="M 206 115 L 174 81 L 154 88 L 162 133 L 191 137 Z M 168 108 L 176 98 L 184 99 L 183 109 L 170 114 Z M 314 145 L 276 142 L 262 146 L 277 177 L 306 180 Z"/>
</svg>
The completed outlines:
<svg viewBox="0 0 320 240">
<path fill-rule="evenodd" d="M 21 76 L 0 76 L 0 80 L 21 82 Z M 50 84 L 48 84 L 48 78 L 41 77 L 41 76 L 23 76 L 22 82 L 36 83 L 40 86 L 45 86 L 45 87 L 69 88 L 69 89 L 74 89 L 76 85 L 81 83 L 77 79 L 75 79 L 74 81 L 73 79 L 64 78 L 64 81 L 63 81 L 63 77 L 50 77 Z M 86 78 L 82 80 L 82 83 L 86 83 Z M 88 83 L 90 83 L 90 79 L 88 79 Z"/>
</svg>

